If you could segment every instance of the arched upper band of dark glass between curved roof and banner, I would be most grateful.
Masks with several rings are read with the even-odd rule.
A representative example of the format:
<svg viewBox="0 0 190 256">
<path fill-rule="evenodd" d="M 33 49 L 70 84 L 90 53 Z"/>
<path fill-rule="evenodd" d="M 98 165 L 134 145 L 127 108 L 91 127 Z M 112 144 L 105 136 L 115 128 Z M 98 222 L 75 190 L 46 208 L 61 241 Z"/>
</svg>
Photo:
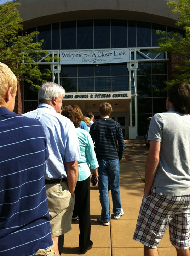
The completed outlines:
<svg viewBox="0 0 190 256">
<path fill-rule="evenodd" d="M 39 31 L 45 50 L 155 47 L 161 35 L 156 30 L 180 32 L 177 28 L 134 20 L 79 20 L 59 22 L 26 30 Z M 23 31 L 25 33 L 25 31 Z"/>
</svg>

